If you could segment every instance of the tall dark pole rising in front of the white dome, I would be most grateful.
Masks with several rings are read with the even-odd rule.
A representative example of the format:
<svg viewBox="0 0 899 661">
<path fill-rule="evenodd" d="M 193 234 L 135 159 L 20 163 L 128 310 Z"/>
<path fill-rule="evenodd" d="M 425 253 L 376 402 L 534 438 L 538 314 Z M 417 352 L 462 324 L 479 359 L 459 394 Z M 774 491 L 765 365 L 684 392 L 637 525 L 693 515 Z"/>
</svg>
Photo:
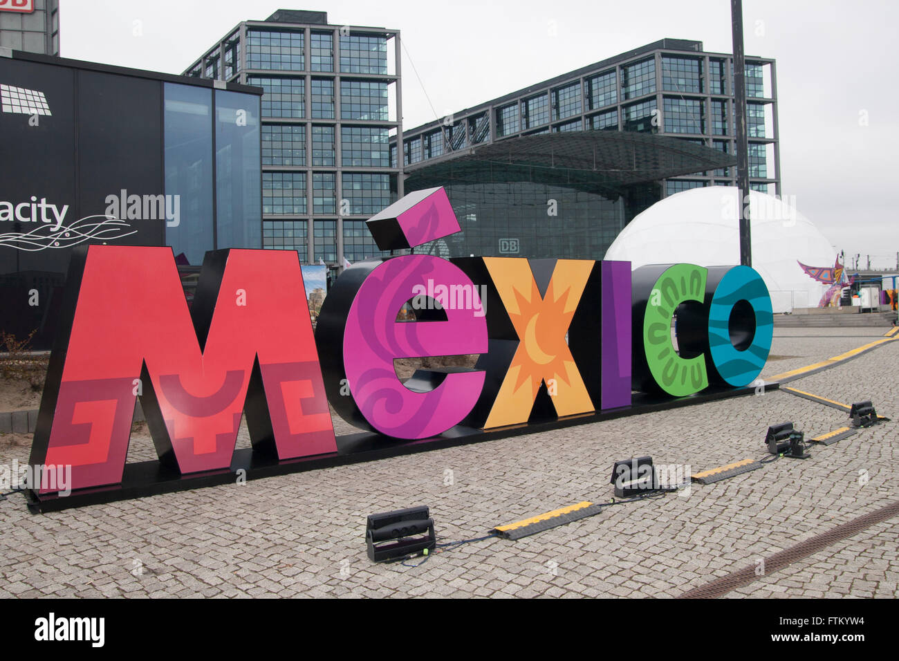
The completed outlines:
<svg viewBox="0 0 899 661">
<path fill-rule="evenodd" d="M 731 0 L 734 37 L 734 119 L 736 121 L 736 185 L 740 189 L 740 264 L 752 266 L 749 213 L 749 141 L 746 137 L 746 62 L 743 58 L 743 0 Z"/>
</svg>

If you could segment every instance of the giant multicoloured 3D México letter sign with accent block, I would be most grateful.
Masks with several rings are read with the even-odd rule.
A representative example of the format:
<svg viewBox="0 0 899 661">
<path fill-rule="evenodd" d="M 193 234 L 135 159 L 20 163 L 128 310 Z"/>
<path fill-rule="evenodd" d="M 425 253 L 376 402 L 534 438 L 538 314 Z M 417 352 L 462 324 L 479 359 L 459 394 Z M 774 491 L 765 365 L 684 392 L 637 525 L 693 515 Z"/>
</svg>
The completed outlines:
<svg viewBox="0 0 899 661">
<path fill-rule="evenodd" d="M 459 226 L 436 188 L 369 229 L 395 250 Z M 410 303 L 414 320 L 399 319 Z M 736 394 L 772 335 L 768 290 L 745 266 L 398 255 L 343 272 L 313 333 L 296 252 L 208 253 L 188 308 L 171 249 L 148 246 L 79 248 L 62 314 L 31 465 L 71 467 L 68 497 L 84 502 Z M 475 367 L 396 376 L 396 359 L 459 354 L 479 354 Z M 159 460 L 129 473 L 138 397 Z M 335 437 L 329 402 L 367 434 Z M 52 484 L 30 496 L 67 506 Z"/>
</svg>

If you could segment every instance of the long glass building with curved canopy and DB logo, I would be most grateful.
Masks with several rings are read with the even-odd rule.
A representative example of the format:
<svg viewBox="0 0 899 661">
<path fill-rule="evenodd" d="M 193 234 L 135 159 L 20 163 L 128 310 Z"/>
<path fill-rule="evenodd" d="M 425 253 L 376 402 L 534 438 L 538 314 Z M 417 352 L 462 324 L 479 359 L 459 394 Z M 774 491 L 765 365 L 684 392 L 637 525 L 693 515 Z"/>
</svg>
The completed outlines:
<svg viewBox="0 0 899 661">
<path fill-rule="evenodd" d="M 779 194 L 773 59 L 746 58 L 746 91 L 750 184 Z M 446 186 L 463 233 L 423 249 L 449 256 L 598 259 L 655 201 L 735 185 L 735 162 L 733 58 L 690 40 L 647 44 L 391 142 L 406 191 Z"/>
</svg>

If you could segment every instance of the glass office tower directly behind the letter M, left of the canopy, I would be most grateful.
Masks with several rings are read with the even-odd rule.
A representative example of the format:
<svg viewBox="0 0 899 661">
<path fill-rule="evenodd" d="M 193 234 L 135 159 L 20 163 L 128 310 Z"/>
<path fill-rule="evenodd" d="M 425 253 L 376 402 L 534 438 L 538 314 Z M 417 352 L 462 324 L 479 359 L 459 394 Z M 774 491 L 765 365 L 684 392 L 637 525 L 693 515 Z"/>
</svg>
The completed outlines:
<svg viewBox="0 0 899 661">
<path fill-rule="evenodd" d="M 384 255 L 365 220 L 403 194 L 399 31 L 279 10 L 241 22 L 184 72 L 263 88 L 263 247 L 332 267 Z"/>
</svg>

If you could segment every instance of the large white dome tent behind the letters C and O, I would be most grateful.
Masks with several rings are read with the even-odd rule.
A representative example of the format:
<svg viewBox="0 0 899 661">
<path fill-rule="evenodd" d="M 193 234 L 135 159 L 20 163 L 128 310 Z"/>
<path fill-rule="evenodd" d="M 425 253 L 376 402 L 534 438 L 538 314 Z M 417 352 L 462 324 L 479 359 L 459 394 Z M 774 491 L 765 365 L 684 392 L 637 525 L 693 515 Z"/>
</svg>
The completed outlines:
<svg viewBox="0 0 899 661">
<path fill-rule="evenodd" d="M 740 264 L 735 186 L 694 188 L 656 202 L 621 230 L 606 259 L 645 264 Z M 761 274 L 774 312 L 815 308 L 827 289 L 797 262 L 832 266 L 836 252 L 794 205 L 752 191 L 752 268 Z"/>
</svg>

